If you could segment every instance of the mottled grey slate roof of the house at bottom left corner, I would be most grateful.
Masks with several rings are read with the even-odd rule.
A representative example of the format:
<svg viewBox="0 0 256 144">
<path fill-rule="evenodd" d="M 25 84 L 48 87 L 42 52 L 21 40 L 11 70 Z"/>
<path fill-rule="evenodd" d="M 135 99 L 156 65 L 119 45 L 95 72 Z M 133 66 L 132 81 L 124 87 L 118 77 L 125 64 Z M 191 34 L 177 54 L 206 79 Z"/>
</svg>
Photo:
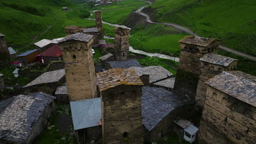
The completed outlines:
<svg viewBox="0 0 256 144">
<path fill-rule="evenodd" d="M 0 137 L 24 143 L 34 123 L 54 97 L 44 93 L 31 93 L 0 101 Z"/>
</svg>

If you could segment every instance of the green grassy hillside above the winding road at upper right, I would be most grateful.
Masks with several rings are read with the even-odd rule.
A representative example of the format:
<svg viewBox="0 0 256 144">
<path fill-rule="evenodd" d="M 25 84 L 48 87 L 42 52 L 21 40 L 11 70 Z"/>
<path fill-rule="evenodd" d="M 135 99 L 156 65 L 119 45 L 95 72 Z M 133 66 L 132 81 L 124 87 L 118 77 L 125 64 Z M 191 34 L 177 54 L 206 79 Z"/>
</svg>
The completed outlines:
<svg viewBox="0 0 256 144">
<path fill-rule="evenodd" d="M 189 27 L 201 37 L 218 38 L 222 44 L 256 56 L 254 0 L 197 1 L 155 0 L 154 21 Z"/>
</svg>

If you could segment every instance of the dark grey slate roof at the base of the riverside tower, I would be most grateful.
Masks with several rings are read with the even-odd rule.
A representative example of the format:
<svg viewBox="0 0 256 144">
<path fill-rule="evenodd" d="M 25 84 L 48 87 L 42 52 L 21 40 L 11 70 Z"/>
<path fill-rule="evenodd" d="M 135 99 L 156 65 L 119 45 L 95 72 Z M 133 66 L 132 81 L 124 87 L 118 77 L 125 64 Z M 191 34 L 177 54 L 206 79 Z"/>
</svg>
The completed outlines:
<svg viewBox="0 0 256 144">
<path fill-rule="evenodd" d="M 112 69 L 114 68 L 121 68 L 127 69 L 130 67 L 142 67 L 141 64 L 136 59 L 129 59 L 126 61 L 113 61 L 113 62 L 106 62 L 110 65 Z"/>
</svg>

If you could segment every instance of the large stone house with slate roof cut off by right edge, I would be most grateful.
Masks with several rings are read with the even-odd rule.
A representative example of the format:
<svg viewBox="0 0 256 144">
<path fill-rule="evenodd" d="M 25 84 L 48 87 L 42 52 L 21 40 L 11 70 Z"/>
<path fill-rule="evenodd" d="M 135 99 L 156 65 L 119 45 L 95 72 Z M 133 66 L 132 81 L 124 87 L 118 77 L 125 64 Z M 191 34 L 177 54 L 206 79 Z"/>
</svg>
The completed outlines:
<svg viewBox="0 0 256 144">
<path fill-rule="evenodd" d="M 206 81 L 200 143 L 255 143 L 255 81 L 241 71 L 223 71 Z"/>
</svg>

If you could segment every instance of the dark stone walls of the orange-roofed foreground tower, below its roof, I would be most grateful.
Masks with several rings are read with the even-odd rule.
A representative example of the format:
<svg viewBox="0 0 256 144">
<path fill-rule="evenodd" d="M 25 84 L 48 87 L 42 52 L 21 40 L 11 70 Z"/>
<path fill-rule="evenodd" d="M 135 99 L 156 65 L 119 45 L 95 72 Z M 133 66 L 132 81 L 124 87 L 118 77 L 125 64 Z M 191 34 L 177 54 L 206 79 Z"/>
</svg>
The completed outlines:
<svg viewBox="0 0 256 144">
<path fill-rule="evenodd" d="M 143 143 L 141 96 L 142 86 L 138 85 L 119 85 L 101 92 L 102 143 Z"/>
</svg>

